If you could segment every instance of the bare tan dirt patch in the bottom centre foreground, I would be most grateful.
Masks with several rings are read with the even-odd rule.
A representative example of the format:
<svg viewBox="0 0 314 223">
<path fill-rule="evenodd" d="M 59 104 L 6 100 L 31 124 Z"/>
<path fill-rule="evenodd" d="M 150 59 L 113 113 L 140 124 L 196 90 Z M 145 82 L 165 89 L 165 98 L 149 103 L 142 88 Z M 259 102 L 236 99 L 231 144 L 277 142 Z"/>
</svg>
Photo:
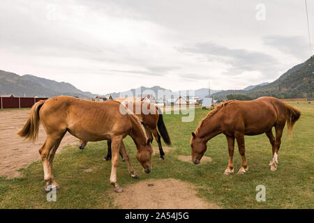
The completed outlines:
<svg viewBox="0 0 314 223">
<path fill-rule="evenodd" d="M 209 209 L 220 208 L 196 196 L 195 187 L 181 180 L 150 179 L 124 187 L 124 192 L 112 192 L 114 205 L 123 209 Z"/>
</svg>

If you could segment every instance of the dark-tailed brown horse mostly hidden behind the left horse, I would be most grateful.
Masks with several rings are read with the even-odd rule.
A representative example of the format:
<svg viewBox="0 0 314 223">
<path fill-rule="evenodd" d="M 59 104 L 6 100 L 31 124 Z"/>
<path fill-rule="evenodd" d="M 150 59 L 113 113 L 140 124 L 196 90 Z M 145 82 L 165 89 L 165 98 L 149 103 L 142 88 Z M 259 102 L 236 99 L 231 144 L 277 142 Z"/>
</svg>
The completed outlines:
<svg viewBox="0 0 314 223">
<path fill-rule="evenodd" d="M 142 122 L 142 125 L 144 125 L 146 134 L 151 140 L 151 142 L 153 141 L 152 134 L 154 135 L 158 143 L 160 159 L 164 160 L 165 153 L 163 152 L 163 146 L 161 145 L 160 134 L 161 134 L 161 137 L 163 137 L 163 141 L 165 141 L 165 144 L 167 144 L 168 146 L 171 145 L 171 140 L 167 132 L 167 128 L 165 127 L 165 123 L 163 122 L 163 112 L 161 112 L 160 109 L 156 107 L 155 105 L 151 105 L 150 103 L 147 103 L 147 102 L 135 102 L 135 103 L 131 102 L 124 106 L 131 113 L 135 114 L 138 118 L 140 118 L 140 121 Z M 157 128 L 160 134 L 158 133 Z M 79 148 L 84 149 L 86 145 L 87 145 L 87 141 L 84 141 L 81 139 Z M 107 146 L 108 146 L 107 155 L 105 156 L 104 160 L 111 160 L 112 155 L 111 155 L 111 141 L 110 140 L 107 141 Z M 124 158 L 121 153 L 120 155 L 124 161 Z"/>
</svg>

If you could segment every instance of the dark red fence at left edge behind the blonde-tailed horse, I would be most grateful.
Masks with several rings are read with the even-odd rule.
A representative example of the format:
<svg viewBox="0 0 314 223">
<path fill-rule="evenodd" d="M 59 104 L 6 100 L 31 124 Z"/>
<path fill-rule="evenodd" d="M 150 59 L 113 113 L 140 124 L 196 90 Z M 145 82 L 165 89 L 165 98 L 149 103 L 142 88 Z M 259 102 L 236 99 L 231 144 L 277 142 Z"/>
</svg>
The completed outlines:
<svg viewBox="0 0 314 223">
<path fill-rule="evenodd" d="M 1 109 L 19 109 L 29 108 L 40 100 L 47 100 L 48 98 L 1 98 Z"/>
</svg>

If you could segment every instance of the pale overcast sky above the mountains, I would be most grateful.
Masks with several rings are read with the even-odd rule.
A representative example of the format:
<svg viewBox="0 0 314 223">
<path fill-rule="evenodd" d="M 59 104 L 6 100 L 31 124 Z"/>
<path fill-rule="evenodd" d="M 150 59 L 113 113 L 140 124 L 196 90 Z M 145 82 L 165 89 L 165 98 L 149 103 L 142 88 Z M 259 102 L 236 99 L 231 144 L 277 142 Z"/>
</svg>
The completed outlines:
<svg viewBox="0 0 314 223">
<path fill-rule="evenodd" d="M 0 70 L 92 93 L 243 89 L 311 56 L 303 0 L 30 2 L 0 1 Z"/>
</svg>

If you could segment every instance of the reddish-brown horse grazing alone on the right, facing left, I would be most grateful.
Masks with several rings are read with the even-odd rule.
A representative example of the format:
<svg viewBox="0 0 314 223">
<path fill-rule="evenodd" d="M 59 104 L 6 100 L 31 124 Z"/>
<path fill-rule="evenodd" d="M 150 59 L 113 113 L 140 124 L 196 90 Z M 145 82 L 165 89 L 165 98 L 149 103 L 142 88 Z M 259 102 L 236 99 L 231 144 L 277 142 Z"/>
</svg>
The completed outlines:
<svg viewBox="0 0 314 223">
<path fill-rule="evenodd" d="M 292 133 L 294 123 L 299 119 L 301 112 L 285 102 L 272 97 L 257 98 L 252 101 L 230 100 L 223 103 L 204 118 L 197 130 L 192 132 L 190 146 L 192 148 L 192 161 L 199 164 L 207 150 L 207 141 L 223 133 L 227 138 L 229 150 L 229 164 L 225 175 L 234 172 L 233 153 L 234 138 L 237 139 L 239 153 L 242 157 L 242 167 L 238 174 L 248 171 L 246 162 L 244 135 L 257 135 L 266 133 L 272 147 L 271 171 L 278 167 L 278 150 L 281 146 L 281 136 L 287 121 L 287 132 Z M 276 138 L 271 129 L 275 127 Z"/>
</svg>

